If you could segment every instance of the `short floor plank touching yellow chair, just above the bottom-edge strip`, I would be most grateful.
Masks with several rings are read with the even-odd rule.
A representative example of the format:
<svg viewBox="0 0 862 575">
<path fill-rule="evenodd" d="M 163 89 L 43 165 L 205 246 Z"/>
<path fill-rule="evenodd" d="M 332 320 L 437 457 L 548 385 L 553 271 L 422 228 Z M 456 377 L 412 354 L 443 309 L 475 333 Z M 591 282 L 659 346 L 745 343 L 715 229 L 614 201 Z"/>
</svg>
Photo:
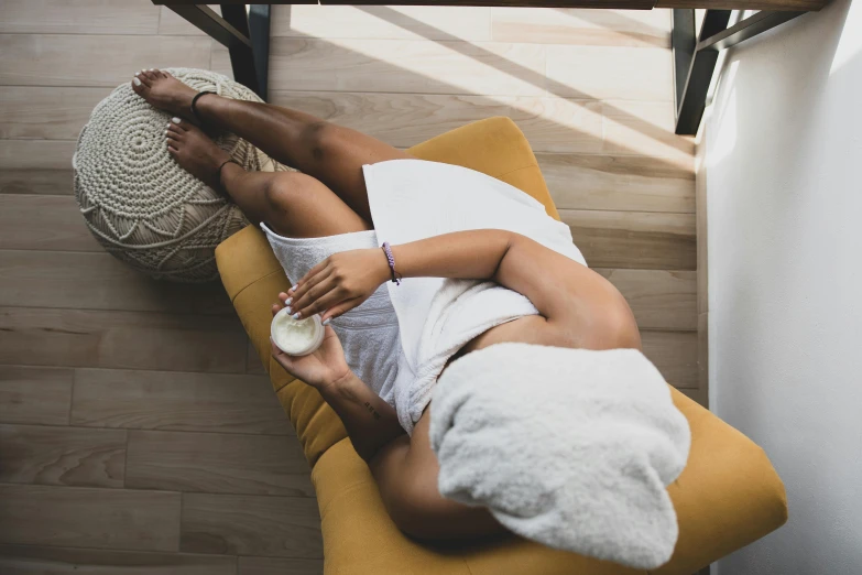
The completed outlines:
<svg viewBox="0 0 862 575">
<path fill-rule="evenodd" d="M 306 497 L 184 493 L 179 549 L 320 558 L 317 501 Z"/>
</svg>

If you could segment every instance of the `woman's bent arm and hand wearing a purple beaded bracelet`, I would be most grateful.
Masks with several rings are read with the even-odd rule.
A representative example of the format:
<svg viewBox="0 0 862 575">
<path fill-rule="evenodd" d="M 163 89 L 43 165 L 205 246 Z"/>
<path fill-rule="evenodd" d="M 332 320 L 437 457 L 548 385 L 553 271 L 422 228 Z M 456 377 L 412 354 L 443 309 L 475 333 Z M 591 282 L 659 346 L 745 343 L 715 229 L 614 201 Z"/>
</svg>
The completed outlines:
<svg viewBox="0 0 862 575">
<path fill-rule="evenodd" d="M 393 246 L 392 253 L 403 278 L 491 280 L 525 295 L 574 347 L 640 347 L 634 316 L 610 282 L 520 234 L 457 231 Z M 388 279 L 389 264 L 380 249 L 336 253 L 291 291 L 293 305 L 303 316 L 337 316 Z"/>
</svg>

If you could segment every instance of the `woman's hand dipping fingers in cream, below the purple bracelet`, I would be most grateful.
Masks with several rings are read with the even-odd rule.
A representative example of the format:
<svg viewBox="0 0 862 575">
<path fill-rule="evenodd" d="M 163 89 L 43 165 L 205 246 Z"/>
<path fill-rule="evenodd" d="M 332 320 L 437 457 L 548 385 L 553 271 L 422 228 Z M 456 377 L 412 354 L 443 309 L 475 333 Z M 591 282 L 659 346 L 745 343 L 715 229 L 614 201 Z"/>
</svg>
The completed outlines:
<svg viewBox="0 0 862 575">
<path fill-rule="evenodd" d="M 285 302 L 297 318 L 320 314 L 338 317 L 368 300 L 390 278 L 386 254 L 379 248 L 334 253 L 306 273 L 288 291 Z"/>
</svg>

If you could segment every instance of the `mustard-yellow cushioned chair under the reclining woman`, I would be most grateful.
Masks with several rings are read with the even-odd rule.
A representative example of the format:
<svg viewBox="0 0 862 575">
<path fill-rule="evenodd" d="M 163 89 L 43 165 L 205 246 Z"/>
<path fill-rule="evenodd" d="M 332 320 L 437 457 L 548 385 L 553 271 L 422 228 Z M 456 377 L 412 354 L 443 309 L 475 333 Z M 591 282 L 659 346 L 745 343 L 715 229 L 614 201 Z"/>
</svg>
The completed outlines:
<svg viewBox="0 0 862 575">
<path fill-rule="evenodd" d="M 542 202 L 558 218 L 530 144 L 509 118 L 473 122 L 410 152 L 498 177 Z M 428 545 L 401 533 L 335 412 L 317 391 L 271 361 L 270 304 L 290 282 L 263 235 L 245 228 L 222 242 L 216 258 L 225 288 L 313 466 L 327 574 L 645 573 L 515 535 L 482 544 Z M 670 562 L 652 573 L 690 575 L 781 527 L 787 520 L 787 502 L 784 486 L 760 447 L 678 391 L 673 395 L 691 426 L 691 454 L 683 475 L 668 488 L 679 518 L 679 541 Z"/>
</svg>

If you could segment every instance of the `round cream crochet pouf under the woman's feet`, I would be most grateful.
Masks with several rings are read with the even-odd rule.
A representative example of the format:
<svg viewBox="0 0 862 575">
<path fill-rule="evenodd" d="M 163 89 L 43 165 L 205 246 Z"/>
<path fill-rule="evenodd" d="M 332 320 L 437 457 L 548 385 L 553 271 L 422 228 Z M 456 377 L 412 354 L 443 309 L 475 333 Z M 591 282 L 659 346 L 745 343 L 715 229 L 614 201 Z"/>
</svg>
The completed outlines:
<svg viewBox="0 0 862 575">
<path fill-rule="evenodd" d="M 197 91 L 261 101 L 221 74 L 167 72 Z M 75 199 L 92 235 L 120 260 L 156 279 L 206 282 L 218 276 L 216 246 L 248 220 L 171 156 L 165 140 L 170 119 L 129 82 L 118 86 L 96 106 L 78 137 L 72 161 Z M 231 133 L 215 141 L 245 170 L 292 170 Z"/>
</svg>

